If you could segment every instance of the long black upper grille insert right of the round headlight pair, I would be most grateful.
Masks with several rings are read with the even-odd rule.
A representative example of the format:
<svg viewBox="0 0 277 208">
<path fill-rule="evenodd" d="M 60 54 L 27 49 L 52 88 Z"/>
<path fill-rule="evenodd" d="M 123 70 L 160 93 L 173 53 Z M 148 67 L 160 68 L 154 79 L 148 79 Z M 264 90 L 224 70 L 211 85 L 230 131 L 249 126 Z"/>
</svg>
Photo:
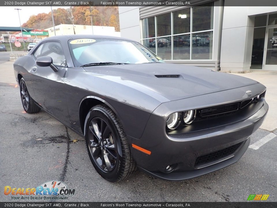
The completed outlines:
<svg viewBox="0 0 277 208">
<path fill-rule="evenodd" d="M 232 103 L 228 105 L 220 105 L 211 108 L 205 108 L 200 110 L 200 117 L 206 117 L 217 114 L 224 114 L 227 112 L 234 112 L 239 109 L 239 103 Z"/>
</svg>

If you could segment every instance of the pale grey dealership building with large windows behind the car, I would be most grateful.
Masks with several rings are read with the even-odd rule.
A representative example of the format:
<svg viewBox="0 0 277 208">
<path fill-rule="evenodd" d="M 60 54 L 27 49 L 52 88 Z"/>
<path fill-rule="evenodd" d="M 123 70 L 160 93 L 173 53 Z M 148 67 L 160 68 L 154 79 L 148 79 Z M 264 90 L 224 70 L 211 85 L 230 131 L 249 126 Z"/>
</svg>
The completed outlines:
<svg viewBox="0 0 277 208">
<path fill-rule="evenodd" d="M 121 6 L 121 37 L 170 63 L 233 73 L 277 70 L 277 6 L 226 6 L 229 1 Z"/>
</svg>

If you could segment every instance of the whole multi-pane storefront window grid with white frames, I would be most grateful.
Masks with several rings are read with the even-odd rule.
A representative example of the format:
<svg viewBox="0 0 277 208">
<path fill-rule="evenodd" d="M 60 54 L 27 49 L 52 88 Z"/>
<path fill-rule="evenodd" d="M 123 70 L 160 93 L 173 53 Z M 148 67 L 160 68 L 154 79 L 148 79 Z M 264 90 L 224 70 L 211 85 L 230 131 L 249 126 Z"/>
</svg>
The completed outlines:
<svg viewBox="0 0 277 208">
<path fill-rule="evenodd" d="M 160 14 L 141 21 L 143 45 L 162 59 L 212 59 L 213 2 Z"/>
</svg>

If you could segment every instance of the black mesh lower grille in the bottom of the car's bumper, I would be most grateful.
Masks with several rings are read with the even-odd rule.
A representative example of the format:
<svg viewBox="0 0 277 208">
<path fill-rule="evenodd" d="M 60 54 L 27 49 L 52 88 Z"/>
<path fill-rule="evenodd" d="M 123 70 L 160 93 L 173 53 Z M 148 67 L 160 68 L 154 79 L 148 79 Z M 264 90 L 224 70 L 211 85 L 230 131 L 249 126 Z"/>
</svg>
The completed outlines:
<svg viewBox="0 0 277 208">
<path fill-rule="evenodd" d="M 226 157 L 228 155 L 233 154 L 237 148 L 242 144 L 242 142 L 235 144 L 233 146 L 227 147 L 225 149 L 213 152 L 213 153 L 209 153 L 207 155 L 201 155 L 200 157 L 196 158 L 195 161 L 195 167 L 197 166 L 203 166 L 203 164 L 206 163 L 211 163 L 213 161 L 216 161 L 220 158 Z"/>
</svg>

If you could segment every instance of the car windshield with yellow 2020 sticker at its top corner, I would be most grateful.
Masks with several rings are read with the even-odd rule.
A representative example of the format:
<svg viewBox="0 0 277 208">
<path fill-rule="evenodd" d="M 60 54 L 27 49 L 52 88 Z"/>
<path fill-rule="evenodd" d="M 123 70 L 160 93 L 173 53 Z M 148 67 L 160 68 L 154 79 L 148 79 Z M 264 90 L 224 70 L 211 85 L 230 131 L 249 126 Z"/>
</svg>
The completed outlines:
<svg viewBox="0 0 277 208">
<path fill-rule="evenodd" d="M 69 40 L 74 65 L 113 62 L 142 64 L 164 62 L 160 57 L 137 42 L 106 38 Z"/>
</svg>

